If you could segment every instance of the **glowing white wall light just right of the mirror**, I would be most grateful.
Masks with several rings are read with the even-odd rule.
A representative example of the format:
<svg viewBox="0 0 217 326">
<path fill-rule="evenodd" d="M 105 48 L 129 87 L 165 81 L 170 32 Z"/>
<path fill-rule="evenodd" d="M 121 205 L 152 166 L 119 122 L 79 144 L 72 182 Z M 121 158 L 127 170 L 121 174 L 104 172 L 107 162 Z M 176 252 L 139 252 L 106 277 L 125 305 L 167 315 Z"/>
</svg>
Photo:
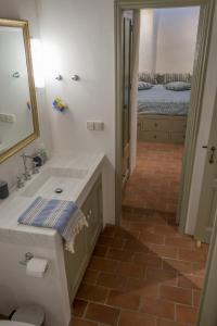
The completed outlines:
<svg viewBox="0 0 217 326">
<path fill-rule="evenodd" d="M 46 86 L 46 83 L 44 83 L 44 75 L 43 75 L 44 66 L 43 66 L 43 59 L 42 59 L 41 41 L 37 38 L 31 38 L 30 47 L 31 47 L 35 86 L 37 88 L 43 88 Z"/>
</svg>

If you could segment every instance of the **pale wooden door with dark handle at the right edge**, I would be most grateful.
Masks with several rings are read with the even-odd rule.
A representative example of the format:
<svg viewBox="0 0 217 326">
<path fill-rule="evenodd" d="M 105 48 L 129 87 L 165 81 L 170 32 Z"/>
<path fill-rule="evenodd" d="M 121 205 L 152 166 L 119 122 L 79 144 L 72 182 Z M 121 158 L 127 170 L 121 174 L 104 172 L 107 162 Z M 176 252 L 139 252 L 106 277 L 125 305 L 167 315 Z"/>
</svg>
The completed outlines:
<svg viewBox="0 0 217 326">
<path fill-rule="evenodd" d="M 203 149 L 207 154 L 194 237 L 209 243 L 217 209 L 217 95 L 208 145 Z"/>
</svg>

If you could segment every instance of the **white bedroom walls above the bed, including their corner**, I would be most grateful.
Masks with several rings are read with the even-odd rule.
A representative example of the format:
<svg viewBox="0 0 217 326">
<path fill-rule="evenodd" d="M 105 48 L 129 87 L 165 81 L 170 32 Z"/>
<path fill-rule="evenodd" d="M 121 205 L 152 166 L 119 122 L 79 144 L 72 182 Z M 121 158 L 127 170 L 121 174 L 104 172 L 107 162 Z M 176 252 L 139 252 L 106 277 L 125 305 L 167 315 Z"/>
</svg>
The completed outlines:
<svg viewBox="0 0 217 326">
<path fill-rule="evenodd" d="M 199 7 L 141 11 L 140 71 L 192 72 Z"/>
</svg>

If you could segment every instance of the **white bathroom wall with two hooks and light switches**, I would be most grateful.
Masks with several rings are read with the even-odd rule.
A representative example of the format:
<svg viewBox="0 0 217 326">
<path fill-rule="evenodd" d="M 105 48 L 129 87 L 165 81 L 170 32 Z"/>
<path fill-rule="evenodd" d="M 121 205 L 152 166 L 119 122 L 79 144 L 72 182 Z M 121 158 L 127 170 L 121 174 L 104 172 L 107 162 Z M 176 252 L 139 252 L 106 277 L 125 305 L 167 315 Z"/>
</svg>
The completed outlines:
<svg viewBox="0 0 217 326">
<path fill-rule="evenodd" d="M 115 74 L 113 0 L 41 0 L 41 36 L 47 53 L 47 95 L 55 151 L 76 148 L 106 153 L 104 217 L 114 223 Z M 56 82 L 56 74 L 63 75 Z M 79 82 L 71 76 L 78 74 Z M 65 113 L 52 109 L 60 96 Z M 103 131 L 87 130 L 100 120 Z"/>
</svg>

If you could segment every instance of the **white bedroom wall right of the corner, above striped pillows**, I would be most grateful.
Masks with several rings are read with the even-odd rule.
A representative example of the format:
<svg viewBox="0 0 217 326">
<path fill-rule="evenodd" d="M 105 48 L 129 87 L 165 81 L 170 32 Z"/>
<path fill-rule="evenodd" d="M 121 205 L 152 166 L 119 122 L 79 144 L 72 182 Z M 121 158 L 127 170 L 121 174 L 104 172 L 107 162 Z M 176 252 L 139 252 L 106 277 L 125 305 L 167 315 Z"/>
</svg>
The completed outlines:
<svg viewBox="0 0 217 326">
<path fill-rule="evenodd" d="M 156 72 L 188 73 L 193 70 L 200 9 L 157 9 Z"/>
</svg>

